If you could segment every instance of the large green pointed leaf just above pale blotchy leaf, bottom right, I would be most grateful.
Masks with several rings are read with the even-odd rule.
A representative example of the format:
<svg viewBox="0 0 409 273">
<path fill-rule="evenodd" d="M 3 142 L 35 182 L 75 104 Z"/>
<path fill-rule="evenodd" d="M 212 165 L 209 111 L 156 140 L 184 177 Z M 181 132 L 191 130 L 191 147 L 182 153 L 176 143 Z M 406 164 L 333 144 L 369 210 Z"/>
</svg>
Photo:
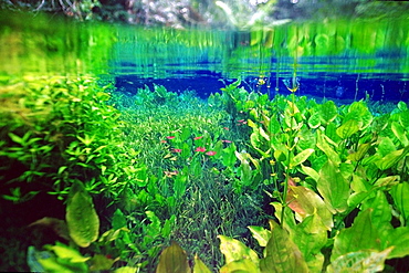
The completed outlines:
<svg viewBox="0 0 409 273">
<path fill-rule="evenodd" d="M 331 261 L 349 252 L 380 250 L 378 228 L 373 225 L 373 209 L 360 211 L 350 228 L 343 229 L 335 237 Z"/>
</svg>

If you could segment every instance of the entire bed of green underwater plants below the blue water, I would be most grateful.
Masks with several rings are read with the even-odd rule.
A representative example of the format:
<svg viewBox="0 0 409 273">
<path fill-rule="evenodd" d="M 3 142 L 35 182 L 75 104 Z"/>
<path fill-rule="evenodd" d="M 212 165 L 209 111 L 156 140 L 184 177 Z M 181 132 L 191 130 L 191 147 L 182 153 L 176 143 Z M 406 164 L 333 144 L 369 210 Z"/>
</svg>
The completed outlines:
<svg viewBox="0 0 409 273">
<path fill-rule="evenodd" d="M 1 83 L 0 271 L 408 270 L 403 102 Z"/>
</svg>

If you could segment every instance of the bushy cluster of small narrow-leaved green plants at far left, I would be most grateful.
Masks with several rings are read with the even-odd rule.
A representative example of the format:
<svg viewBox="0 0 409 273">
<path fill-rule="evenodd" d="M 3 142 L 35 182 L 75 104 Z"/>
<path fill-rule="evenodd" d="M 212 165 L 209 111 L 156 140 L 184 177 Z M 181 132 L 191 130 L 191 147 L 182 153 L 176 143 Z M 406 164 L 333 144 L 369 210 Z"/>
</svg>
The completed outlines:
<svg viewBox="0 0 409 273">
<path fill-rule="evenodd" d="M 23 219 L 24 216 L 19 214 L 14 208 L 25 203 L 24 208 L 34 207 L 40 211 L 42 207 L 54 206 L 55 202 L 43 202 L 44 195 L 49 195 L 67 201 L 66 224 L 60 218 L 45 217 L 32 222 L 28 228 L 49 228 L 63 241 L 82 238 L 83 231 L 91 232 L 87 229 L 92 225 L 86 220 L 91 216 L 96 216 L 96 212 L 87 213 L 93 207 L 91 200 L 93 196 L 97 214 L 109 218 L 109 223 L 106 223 L 106 219 L 102 219 L 104 225 L 101 229 L 116 229 L 106 231 L 107 233 L 98 238 L 99 225 L 94 225 L 92 240 L 88 239 L 87 244 L 74 240 L 74 245 L 87 248 L 85 252 L 88 255 L 97 253 L 96 259 L 99 259 L 99 255 L 113 255 L 118 260 L 129 260 L 129 256 L 137 253 L 140 256 L 135 258 L 133 265 L 143 266 L 140 260 L 148 264 L 149 261 L 145 256 L 149 254 L 147 251 L 155 250 L 158 237 L 161 238 L 160 235 L 164 234 L 164 238 L 167 238 L 162 229 L 168 230 L 169 233 L 171 219 L 164 223 L 165 228 L 162 228 L 162 224 L 158 225 L 160 220 L 155 212 L 145 208 L 146 201 L 150 201 L 146 198 L 147 192 L 155 197 L 155 200 L 164 201 L 164 198 L 158 193 L 155 177 L 148 177 L 147 167 L 138 161 L 138 151 L 126 145 L 125 124 L 119 120 L 120 112 L 107 104 L 111 97 L 111 85 L 99 86 L 97 80 L 91 76 L 24 76 L 23 78 L 6 76 L 2 80 L 4 86 L 0 88 L 2 105 L 0 157 L 3 164 L 0 179 L 4 204 L 1 213 L 8 222 L 4 230 L 11 227 L 15 232 L 13 223 L 17 227 L 22 224 L 21 221 L 15 220 Z M 77 191 L 82 193 L 76 207 L 70 209 L 70 196 L 72 196 L 70 192 L 73 188 L 80 188 L 81 190 Z M 137 203 L 138 206 L 135 207 L 144 209 L 132 219 L 124 220 L 125 216 L 120 209 L 134 209 L 135 207 L 129 208 L 129 203 Z M 151 203 L 150 208 L 154 208 L 155 202 Z M 118 211 L 114 213 L 114 221 L 111 224 L 111 218 L 115 211 L 113 204 L 118 206 Z M 158 204 L 160 206 L 166 207 L 164 202 Z M 69 217 L 69 211 L 74 211 L 74 214 L 78 213 L 80 217 Z M 81 221 L 81 219 L 84 220 Z M 117 228 L 118 222 L 123 221 L 129 222 Z M 81 234 L 72 234 L 70 228 L 72 224 L 82 227 Z M 66 225 L 70 232 L 66 231 Z M 97 238 L 99 244 L 95 242 Z M 143 238 L 145 238 L 144 241 L 136 245 L 135 242 Z M 4 244 L 7 244 L 6 241 Z M 94 244 L 90 246 L 93 242 Z M 77 260 L 70 255 L 65 256 L 71 250 L 70 246 L 62 246 L 64 251 L 60 246 L 52 248 L 55 254 L 51 254 L 52 251 L 45 254 L 38 253 L 31 248 L 28 259 L 30 253 L 34 258 L 53 256 L 50 263 L 42 264 L 43 269 L 50 271 L 55 266 L 56 272 L 61 272 L 64 266 L 75 272 L 80 267 L 81 271 L 85 269 L 85 264 L 71 267 L 70 261 L 77 262 Z M 154 251 L 153 253 L 151 256 L 155 258 L 156 254 Z M 114 263 L 109 265 L 111 260 L 99 260 L 98 264 L 106 262 L 105 265 L 98 265 L 105 270 Z M 85 261 L 87 259 L 80 262 Z M 34 264 L 38 263 L 34 262 Z M 120 265 L 120 262 L 118 264 Z M 135 269 L 137 266 L 135 265 Z"/>
</svg>

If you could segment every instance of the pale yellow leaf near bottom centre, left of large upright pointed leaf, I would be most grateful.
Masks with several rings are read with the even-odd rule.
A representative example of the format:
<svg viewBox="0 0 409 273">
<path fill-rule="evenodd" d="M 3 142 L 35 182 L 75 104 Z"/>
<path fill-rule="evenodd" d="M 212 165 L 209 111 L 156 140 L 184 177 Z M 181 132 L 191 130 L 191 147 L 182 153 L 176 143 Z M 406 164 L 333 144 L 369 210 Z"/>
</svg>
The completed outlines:
<svg viewBox="0 0 409 273">
<path fill-rule="evenodd" d="M 224 255 L 226 264 L 240 260 L 250 260 L 255 265 L 259 265 L 258 254 L 239 240 L 218 235 L 220 240 L 220 251 Z"/>
</svg>

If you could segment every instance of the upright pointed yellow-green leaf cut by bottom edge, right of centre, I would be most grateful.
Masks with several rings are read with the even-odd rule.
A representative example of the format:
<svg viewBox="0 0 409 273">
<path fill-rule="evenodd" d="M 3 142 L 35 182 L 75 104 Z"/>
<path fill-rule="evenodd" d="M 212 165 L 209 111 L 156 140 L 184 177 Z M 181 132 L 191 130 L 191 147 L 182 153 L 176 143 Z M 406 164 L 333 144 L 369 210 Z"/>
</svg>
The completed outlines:
<svg viewBox="0 0 409 273">
<path fill-rule="evenodd" d="M 290 239 L 286 230 L 270 220 L 271 238 L 265 248 L 265 258 L 260 260 L 261 272 L 304 273 L 307 264 L 298 246 Z"/>
</svg>

